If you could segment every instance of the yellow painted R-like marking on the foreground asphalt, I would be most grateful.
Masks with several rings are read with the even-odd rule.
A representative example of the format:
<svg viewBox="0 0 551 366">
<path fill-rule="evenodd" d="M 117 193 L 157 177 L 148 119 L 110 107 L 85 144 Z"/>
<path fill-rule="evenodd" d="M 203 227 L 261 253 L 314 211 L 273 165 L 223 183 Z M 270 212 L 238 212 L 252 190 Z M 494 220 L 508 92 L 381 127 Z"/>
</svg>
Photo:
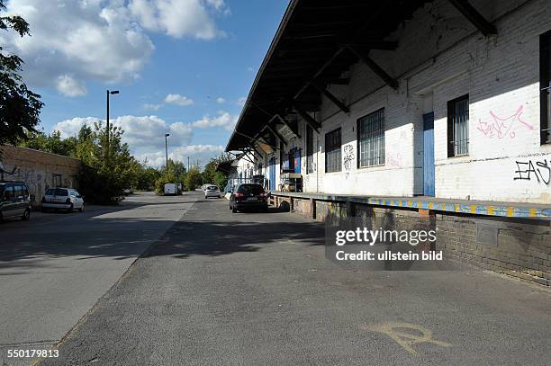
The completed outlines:
<svg viewBox="0 0 551 366">
<path fill-rule="evenodd" d="M 404 350 L 411 354 L 419 354 L 413 349 L 414 344 L 437 344 L 442 347 L 449 347 L 451 344 L 432 339 L 432 331 L 422 326 L 410 323 L 385 323 L 378 326 L 367 326 L 367 330 L 384 333 L 402 346 Z M 405 330 L 410 330 L 406 332 Z M 420 333 L 420 335 L 418 335 Z"/>
</svg>

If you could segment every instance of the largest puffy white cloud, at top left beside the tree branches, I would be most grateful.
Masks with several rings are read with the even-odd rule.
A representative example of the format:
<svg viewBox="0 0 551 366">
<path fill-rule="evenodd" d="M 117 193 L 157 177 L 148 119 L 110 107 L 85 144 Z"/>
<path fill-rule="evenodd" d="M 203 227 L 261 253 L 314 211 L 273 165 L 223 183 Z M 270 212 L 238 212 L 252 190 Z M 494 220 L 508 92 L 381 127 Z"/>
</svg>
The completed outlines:
<svg viewBox="0 0 551 366">
<path fill-rule="evenodd" d="M 84 94 L 86 80 L 132 80 L 154 49 L 123 2 L 59 1 L 52 6 L 43 0 L 11 0 L 6 13 L 30 23 L 32 37 L 14 31 L 0 36 L 5 49 L 25 61 L 27 82 L 56 87 L 62 94 Z"/>
</svg>

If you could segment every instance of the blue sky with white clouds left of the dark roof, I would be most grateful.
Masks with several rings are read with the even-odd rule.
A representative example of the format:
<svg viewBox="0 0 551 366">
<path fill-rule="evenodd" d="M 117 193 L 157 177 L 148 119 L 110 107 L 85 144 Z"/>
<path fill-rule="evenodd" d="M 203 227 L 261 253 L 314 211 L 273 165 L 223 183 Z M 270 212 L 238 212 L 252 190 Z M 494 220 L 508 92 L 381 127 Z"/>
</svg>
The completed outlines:
<svg viewBox="0 0 551 366">
<path fill-rule="evenodd" d="M 40 129 L 105 119 L 134 156 L 206 164 L 223 151 L 288 0 L 8 0 L 31 36 L 0 33 L 45 103 Z M 4 12 L 3 12 L 4 13 Z"/>
</svg>

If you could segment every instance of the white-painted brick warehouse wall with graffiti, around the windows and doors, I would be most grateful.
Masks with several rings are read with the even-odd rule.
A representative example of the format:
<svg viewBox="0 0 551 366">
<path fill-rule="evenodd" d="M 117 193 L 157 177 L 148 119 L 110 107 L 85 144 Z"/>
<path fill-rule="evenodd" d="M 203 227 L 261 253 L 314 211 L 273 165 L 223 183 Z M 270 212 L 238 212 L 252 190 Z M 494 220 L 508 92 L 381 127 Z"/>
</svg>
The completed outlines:
<svg viewBox="0 0 551 366">
<path fill-rule="evenodd" d="M 314 132 L 314 173 L 306 174 L 306 124 L 302 138 L 305 192 L 413 196 L 423 193 L 422 115 L 435 113 L 436 196 L 484 201 L 551 203 L 551 146 L 539 143 L 539 35 L 551 30 L 548 0 L 473 0 L 498 30 L 480 31 L 445 0 L 426 4 L 389 37 L 393 51 L 370 56 L 399 81 L 393 90 L 363 64 L 330 92 L 350 106 L 340 112 L 323 99 L 321 133 Z M 469 155 L 447 157 L 447 102 L 469 94 Z M 384 108 L 385 164 L 357 168 L 357 119 Z M 505 127 L 498 122 L 504 120 Z M 341 172 L 326 174 L 325 134 L 341 128 Z M 351 147 L 347 147 L 347 146 Z M 345 148 L 354 158 L 345 169 Z M 279 150 L 276 181 L 279 182 Z M 526 165 L 517 165 L 526 163 Z M 538 171 L 527 169 L 534 166 Z M 539 163 L 539 165 L 537 165 Z M 549 166 L 547 168 L 545 166 Z M 266 159 L 267 176 L 267 159 Z M 519 171 L 519 166 L 520 170 Z M 547 183 L 546 183 L 547 182 Z"/>
</svg>

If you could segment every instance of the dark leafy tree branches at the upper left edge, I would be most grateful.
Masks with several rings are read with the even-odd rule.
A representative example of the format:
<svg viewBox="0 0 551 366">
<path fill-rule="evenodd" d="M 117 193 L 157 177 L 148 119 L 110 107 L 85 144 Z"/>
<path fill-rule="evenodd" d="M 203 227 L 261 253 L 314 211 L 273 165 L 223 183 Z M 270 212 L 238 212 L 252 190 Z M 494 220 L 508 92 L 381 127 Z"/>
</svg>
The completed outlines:
<svg viewBox="0 0 551 366">
<path fill-rule="evenodd" d="M 3 10 L 4 0 L 0 0 L 0 11 Z M 0 16 L 0 30 L 16 31 L 21 37 L 30 35 L 29 23 L 17 15 Z M 0 46 L 0 145 L 15 145 L 28 132 L 36 131 L 40 122 L 41 96 L 23 83 L 22 65 L 23 59 L 6 53 Z"/>
</svg>

